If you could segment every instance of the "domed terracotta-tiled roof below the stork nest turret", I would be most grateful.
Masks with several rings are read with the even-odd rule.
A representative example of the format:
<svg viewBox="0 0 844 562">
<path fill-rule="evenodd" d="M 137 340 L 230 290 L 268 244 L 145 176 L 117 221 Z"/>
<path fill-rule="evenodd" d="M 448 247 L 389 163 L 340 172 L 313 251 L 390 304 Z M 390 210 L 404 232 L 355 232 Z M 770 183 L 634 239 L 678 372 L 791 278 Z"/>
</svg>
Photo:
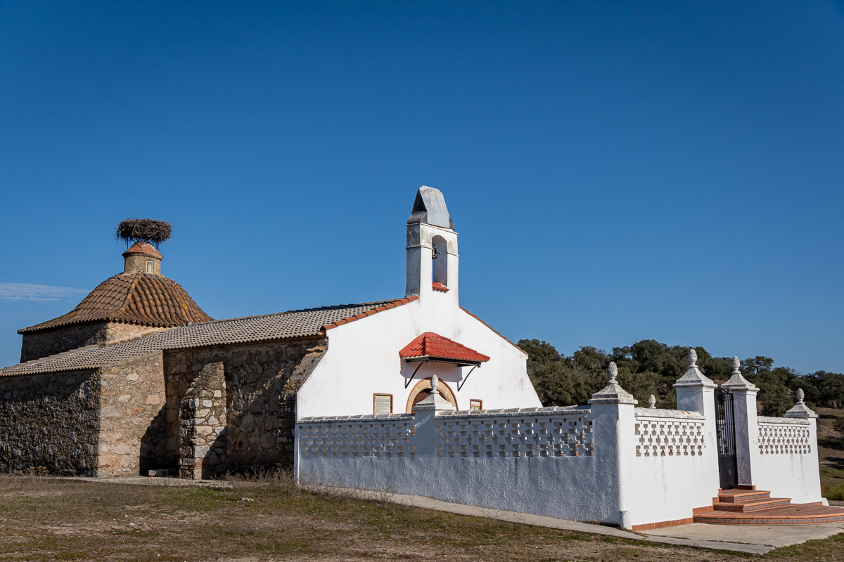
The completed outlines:
<svg viewBox="0 0 844 562">
<path fill-rule="evenodd" d="M 149 326 L 183 326 L 214 320 L 199 308 L 181 285 L 169 277 L 137 271 L 109 277 L 67 314 L 19 334 L 84 322 L 125 322 Z"/>
</svg>

